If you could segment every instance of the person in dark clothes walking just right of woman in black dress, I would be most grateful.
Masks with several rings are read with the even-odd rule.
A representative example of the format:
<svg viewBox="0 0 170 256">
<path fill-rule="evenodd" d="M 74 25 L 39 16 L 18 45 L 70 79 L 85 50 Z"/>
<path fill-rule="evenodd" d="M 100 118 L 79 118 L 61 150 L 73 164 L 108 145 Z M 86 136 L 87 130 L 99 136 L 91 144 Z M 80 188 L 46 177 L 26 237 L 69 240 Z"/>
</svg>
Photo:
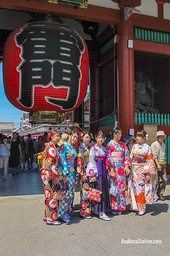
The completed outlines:
<svg viewBox="0 0 170 256">
<path fill-rule="evenodd" d="M 27 168 L 33 168 L 34 154 L 35 154 L 35 142 L 31 138 L 31 134 L 27 135 L 28 139 L 26 140 L 26 157 L 27 157 Z"/>
</svg>

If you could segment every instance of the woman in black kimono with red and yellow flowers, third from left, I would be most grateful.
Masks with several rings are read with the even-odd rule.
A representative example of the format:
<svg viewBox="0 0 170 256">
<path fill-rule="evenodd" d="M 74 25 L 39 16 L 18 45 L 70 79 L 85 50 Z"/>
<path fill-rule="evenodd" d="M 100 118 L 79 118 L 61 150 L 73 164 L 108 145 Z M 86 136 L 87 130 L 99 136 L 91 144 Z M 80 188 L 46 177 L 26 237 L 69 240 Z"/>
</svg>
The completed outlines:
<svg viewBox="0 0 170 256">
<path fill-rule="evenodd" d="M 91 219 L 91 203 L 88 199 L 83 198 L 86 191 L 89 188 L 88 178 L 86 176 L 86 168 L 89 159 L 90 147 L 88 143 L 91 142 L 90 132 L 84 131 L 80 134 L 80 144 L 78 147 L 78 155 L 77 155 L 77 175 L 80 180 L 80 217 L 85 219 Z"/>
</svg>

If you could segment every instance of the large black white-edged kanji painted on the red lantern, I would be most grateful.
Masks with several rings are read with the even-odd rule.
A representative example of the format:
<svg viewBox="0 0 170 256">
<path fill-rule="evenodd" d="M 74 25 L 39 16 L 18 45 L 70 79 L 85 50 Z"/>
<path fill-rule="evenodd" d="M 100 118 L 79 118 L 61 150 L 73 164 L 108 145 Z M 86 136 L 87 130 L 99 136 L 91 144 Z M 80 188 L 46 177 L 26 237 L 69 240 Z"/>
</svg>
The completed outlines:
<svg viewBox="0 0 170 256">
<path fill-rule="evenodd" d="M 34 104 L 34 87 L 68 88 L 66 99 L 46 96 L 50 104 L 62 109 L 73 108 L 79 96 L 81 70 L 79 68 L 84 43 L 71 28 L 48 22 L 33 22 L 15 35 L 21 48 L 20 96 L 18 102 L 27 108 Z"/>
</svg>

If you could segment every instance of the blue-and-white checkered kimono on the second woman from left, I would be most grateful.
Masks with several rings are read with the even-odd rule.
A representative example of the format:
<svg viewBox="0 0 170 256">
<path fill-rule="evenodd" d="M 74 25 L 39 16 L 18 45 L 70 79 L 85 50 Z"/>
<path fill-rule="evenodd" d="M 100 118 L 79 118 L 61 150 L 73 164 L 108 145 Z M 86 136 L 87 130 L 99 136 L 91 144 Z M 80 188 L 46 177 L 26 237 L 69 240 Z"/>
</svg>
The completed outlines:
<svg viewBox="0 0 170 256">
<path fill-rule="evenodd" d="M 64 142 L 58 149 L 60 154 L 59 165 L 58 165 L 58 174 L 66 174 L 68 178 L 68 187 L 67 184 L 64 184 L 61 175 L 58 175 L 60 183 L 58 187 L 64 190 L 71 190 L 72 197 L 68 199 L 59 200 L 59 215 L 65 215 L 68 213 L 71 203 L 73 202 L 74 192 L 75 192 L 75 158 L 77 157 L 77 148 L 71 146 L 68 142 Z"/>
</svg>

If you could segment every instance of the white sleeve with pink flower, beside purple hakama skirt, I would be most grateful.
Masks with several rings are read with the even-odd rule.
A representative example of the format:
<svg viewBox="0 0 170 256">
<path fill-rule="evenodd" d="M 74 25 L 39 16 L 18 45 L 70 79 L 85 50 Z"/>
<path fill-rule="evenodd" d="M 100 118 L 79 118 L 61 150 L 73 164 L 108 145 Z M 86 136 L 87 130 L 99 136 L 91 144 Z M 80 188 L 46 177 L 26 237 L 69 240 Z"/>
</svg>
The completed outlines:
<svg viewBox="0 0 170 256">
<path fill-rule="evenodd" d="M 90 154 L 89 154 L 89 160 L 88 160 L 88 165 L 86 169 L 86 175 L 87 176 L 95 176 L 96 178 L 99 176 L 98 170 L 97 170 L 97 165 L 95 162 L 95 149 L 92 147 L 90 149 Z"/>
</svg>

